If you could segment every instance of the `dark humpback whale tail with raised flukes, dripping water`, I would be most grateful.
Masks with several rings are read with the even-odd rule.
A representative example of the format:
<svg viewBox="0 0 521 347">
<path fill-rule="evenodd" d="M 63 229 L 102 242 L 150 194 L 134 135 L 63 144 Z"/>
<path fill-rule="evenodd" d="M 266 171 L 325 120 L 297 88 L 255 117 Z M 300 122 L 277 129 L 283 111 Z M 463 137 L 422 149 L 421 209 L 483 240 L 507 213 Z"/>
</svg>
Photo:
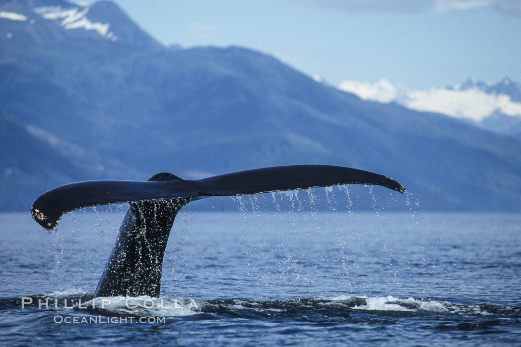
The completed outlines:
<svg viewBox="0 0 521 347">
<path fill-rule="evenodd" d="M 275 166 L 201 179 L 182 179 L 163 172 L 146 182 L 86 181 L 60 186 L 36 199 L 31 214 L 44 228 L 54 229 L 66 212 L 129 202 L 130 207 L 94 296 L 158 297 L 170 229 L 185 204 L 212 196 L 252 195 L 340 184 L 380 185 L 405 191 L 389 177 L 332 165 Z"/>
</svg>

